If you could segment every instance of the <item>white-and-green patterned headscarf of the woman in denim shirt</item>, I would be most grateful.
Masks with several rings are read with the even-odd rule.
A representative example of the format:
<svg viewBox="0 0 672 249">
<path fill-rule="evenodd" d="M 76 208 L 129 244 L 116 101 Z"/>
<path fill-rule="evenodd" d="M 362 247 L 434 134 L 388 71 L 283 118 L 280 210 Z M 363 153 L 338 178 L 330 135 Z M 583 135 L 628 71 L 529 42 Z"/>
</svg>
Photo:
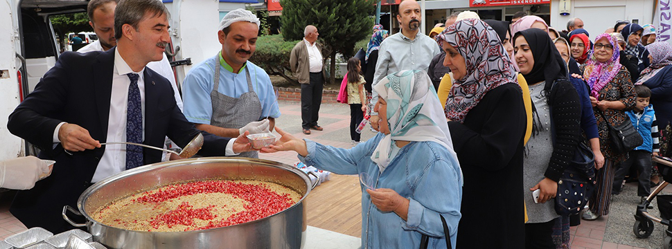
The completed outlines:
<svg viewBox="0 0 672 249">
<path fill-rule="evenodd" d="M 457 162 L 441 102 L 425 71 L 393 73 L 373 88 L 387 102 L 387 123 L 390 129 L 390 133 L 380 140 L 371 155 L 371 160 L 378 164 L 380 172 L 389 165 L 393 140 L 437 142 L 448 149 Z"/>
</svg>

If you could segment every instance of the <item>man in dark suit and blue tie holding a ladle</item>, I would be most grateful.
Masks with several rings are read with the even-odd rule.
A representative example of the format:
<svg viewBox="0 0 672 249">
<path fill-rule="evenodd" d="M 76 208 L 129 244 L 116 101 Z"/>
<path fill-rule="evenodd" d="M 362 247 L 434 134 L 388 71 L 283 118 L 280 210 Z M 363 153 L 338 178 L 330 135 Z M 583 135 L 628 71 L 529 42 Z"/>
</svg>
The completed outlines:
<svg viewBox="0 0 672 249">
<path fill-rule="evenodd" d="M 168 80 L 145 68 L 162 58 L 168 42 L 166 7 L 157 0 L 122 0 L 115 12 L 116 48 L 64 53 L 9 117 L 13 134 L 42 149 L 40 158 L 57 162 L 51 177 L 18 192 L 12 203 L 10 212 L 28 228 L 72 229 L 61 217 L 62 208 L 76 207 L 92 183 L 161 160 L 161 151 L 100 142 L 163 147 L 168 136 L 184 147 L 200 132 L 177 107 Z M 245 136 L 202 133 L 202 156 L 250 150 Z"/>
</svg>

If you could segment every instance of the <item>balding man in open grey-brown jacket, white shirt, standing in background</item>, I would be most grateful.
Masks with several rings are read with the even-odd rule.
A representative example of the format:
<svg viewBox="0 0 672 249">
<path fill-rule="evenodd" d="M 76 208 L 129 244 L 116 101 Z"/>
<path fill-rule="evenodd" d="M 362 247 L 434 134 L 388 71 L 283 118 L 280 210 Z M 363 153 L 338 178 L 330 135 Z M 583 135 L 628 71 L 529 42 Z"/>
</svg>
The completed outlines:
<svg viewBox="0 0 672 249">
<path fill-rule="evenodd" d="M 321 131 L 317 125 L 319 105 L 322 102 L 324 84 L 324 66 L 322 65 L 321 46 L 317 44 L 317 28 L 312 25 L 303 30 L 303 40 L 292 48 L 290 66 L 292 72 L 299 75 L 301 83 L 301 127 L 304 134 L 310 129 Z"/>
</svg>

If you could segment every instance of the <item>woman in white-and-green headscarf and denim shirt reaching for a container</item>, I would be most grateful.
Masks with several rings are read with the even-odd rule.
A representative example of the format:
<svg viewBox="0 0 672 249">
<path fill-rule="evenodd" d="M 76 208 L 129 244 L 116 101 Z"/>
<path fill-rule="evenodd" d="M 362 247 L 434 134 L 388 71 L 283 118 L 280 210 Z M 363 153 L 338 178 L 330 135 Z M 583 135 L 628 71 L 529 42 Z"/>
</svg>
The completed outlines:
<svg viewBox="0 0 672 249">
<path fill-rule="evenodd" d="M 454 245 L 462 174 L 430 78 L 425 71 L 400 71 L 373 87 L 381 121 L 370 140 L 342 149 L 276 128 L 282 138 L 263 151 L 297 151 L 306 165 L 371 176 L 371 189 L 360 185 L 362 248 L 418 248 L 423 234 L 430 248 L 446 248 L 445 237 Z"/>
</svg>

